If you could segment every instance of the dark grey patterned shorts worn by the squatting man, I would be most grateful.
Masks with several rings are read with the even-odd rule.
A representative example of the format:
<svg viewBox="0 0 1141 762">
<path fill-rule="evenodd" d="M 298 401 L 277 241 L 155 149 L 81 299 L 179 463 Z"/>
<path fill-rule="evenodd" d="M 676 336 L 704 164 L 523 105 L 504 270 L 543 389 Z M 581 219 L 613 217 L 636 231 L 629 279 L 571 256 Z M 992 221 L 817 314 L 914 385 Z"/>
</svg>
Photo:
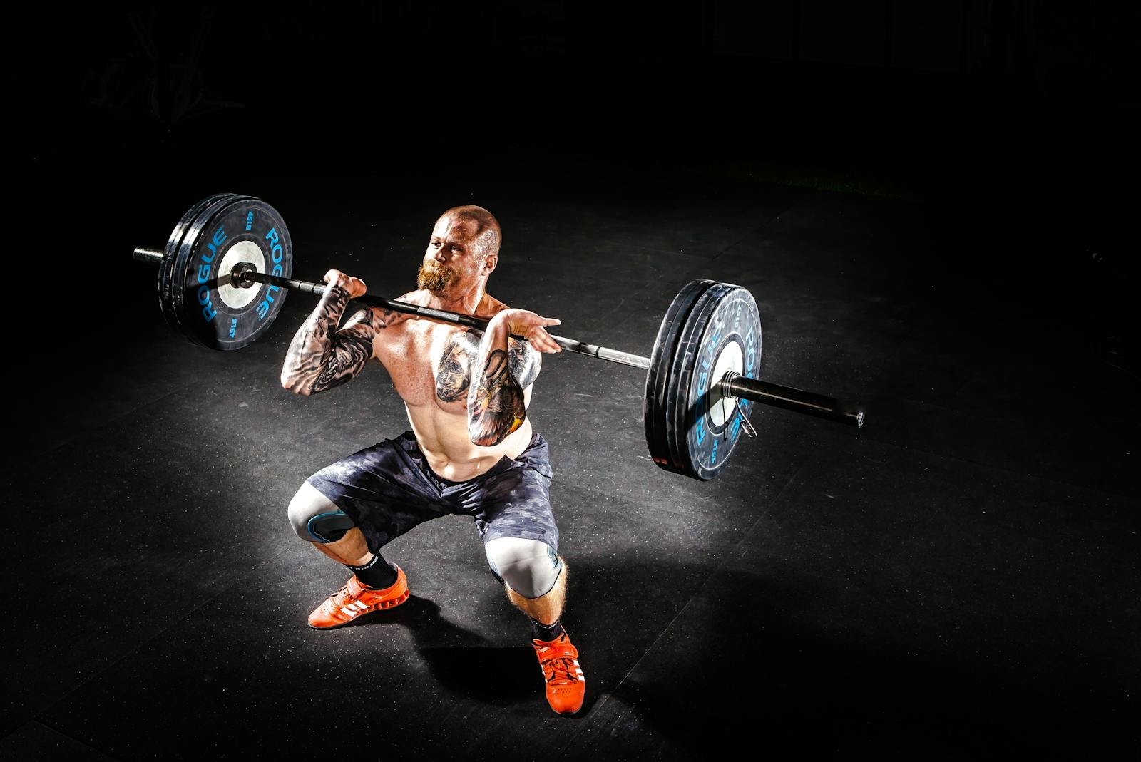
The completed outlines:
<svg viewBox="0 0 1141 762">
<path fill-rule="evenodd" d="M 408 529 L 442 516 L 470 516 L 479 537 L 537 540 L 558 551 L 559 530 L 551 513 L 551 465 L 539 432 L 515 460 L 499 463 L 468 481 L 442 479 L 428 468 L 415 435 L 405 431 L 306 479 L 345 511 L 378 552 Z"/>
</svg>

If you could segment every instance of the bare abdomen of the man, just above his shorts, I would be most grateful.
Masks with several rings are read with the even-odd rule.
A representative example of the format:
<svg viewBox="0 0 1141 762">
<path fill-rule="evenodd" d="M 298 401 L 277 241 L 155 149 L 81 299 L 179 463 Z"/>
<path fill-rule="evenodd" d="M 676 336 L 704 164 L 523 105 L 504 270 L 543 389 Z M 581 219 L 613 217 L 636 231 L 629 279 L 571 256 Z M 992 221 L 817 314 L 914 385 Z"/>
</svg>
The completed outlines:
<svg viewBox="0 0 1141 762">
<path fill-rule="evenodd" d="M 435 402 L 410 405 L 407 400 L 404 407 L 408 411 L 412 432 L 428 467 L 436 476 L 450 481 L 474 479 L 499 463 L 504 455 L 518 457 L 531 444 L 531 421 L 527 419 L 500 444 L 480 447 L 472 444 L 468 436 L 466 410 L 452 413 Z"/>
</svg>

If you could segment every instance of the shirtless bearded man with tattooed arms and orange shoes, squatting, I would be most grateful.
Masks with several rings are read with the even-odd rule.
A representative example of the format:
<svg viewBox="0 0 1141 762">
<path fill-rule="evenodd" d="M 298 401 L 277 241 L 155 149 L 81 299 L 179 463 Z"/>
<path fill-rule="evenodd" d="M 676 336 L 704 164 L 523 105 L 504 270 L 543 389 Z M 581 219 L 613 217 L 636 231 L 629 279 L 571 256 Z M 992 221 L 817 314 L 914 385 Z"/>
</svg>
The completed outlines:
<svg viewBox="0 0 1141 762">
<path fill-rule="evenodd" d="M 309 615 L 309 626 L 321 630 L 407 600 L 404 570 L 380 554 L 390 540 L 442 516 L 475 518 L 492 572 L 531 618 L 547 700 L 574 714 L 585 679 L 559 623 L 567 568 L 551 514 L 547 440 L 526 415 L 540 352 L 560 351 L 545 331 L 559 321 L 510 309 L 485 292 L 501 237 L 486 209 L 447 210 L 432 229 L 418 290 L 399 297 L 489 318 L 485 332 L 378 307 L 338 329 L 365 284 L 339 270 L 325 275 L 330 286 L 290 344 L 282 386 L 306 396 L 324 391 L 377 358 L 404 399 L 412 430 L 310 476 L 289 518 L 299 537 L 353 570 Z"/>
</svg>

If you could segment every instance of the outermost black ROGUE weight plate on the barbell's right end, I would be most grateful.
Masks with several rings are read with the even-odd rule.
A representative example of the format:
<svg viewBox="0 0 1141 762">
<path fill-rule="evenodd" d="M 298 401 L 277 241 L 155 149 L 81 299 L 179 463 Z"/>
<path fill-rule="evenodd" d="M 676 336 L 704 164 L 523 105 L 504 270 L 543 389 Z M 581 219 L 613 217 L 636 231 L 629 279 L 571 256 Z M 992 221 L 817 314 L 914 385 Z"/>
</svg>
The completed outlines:
<svg viewBox="0 0 1141 762">
<path fill-rule="evenodd" d="M 712 479 L 728 464 L 747 399 L 722 398 L 727 371 L 756 378 L 761 362 L 761 318 L 753 295 L 741 286 L 718 284 L 694 307 L 679 340 L 667 406 L 671 459 L 680 473 Z"/>
</svg>

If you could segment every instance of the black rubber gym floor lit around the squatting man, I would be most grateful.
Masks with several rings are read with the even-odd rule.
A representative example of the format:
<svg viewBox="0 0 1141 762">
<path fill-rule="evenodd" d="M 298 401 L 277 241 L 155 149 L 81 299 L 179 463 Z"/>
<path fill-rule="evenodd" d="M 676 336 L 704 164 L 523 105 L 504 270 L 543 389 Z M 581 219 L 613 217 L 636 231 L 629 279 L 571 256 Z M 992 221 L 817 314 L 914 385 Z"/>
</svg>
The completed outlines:
<svg viewBox="0 0 1141 762">
<path fill-rule="evenodd" d="M 614 156 L 418 161 L 43 176 L 86 233 L 9 318 L 0 756 L 1136 759 L 1141 443 L 1114 400 L 1138 376 L 1107 349 L 1120 298 L 1087 257 L 1017 210 Z M 743 285 L 762 378 L 860 399 L 867 424 L 758 406 L 759 439 L 698 483 L 650 462 L 639 371 L 544 362 L 529 415 L 588 680 L 575 718 L 548 708 L 467 520 L 387 546 L 408 603 L 310 630 L 347 574 L 292 534 L 289 500 L 407 421 L 379 365 L 280 387 L 311 298 L 240 352 L 168 329 L 131 249 L 219 190 L 276 206 L 296 276 L 390 295 L 436 216 L 478 203 L 504 229 L 493 295 L 637 354 L 689 279 Z"/>
</svg>

